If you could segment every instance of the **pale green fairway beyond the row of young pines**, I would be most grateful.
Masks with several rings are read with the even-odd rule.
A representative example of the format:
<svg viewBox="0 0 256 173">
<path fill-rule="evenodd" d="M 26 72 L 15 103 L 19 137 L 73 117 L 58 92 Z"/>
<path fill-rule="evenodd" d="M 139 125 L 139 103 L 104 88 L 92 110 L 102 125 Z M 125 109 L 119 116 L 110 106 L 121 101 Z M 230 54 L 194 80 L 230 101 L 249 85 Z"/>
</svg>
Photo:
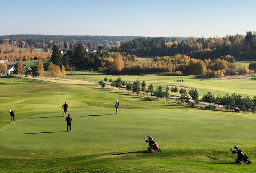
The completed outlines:
<svg viewBox="0 0 256 173">
<path fill-rule="evenodd" d="M 67 72 L 67 76 L 65 76 L 66 79 L 72 79 L 71 75 L 68 75 L 69 72 Z M 45 72 L 45 75 L 50 77 L 47 72 Z M 197 88 L 200 97 L 202 97 L 207 91 L 210 91 L 211 93 L 215 94 L 217 96 L 220 95 L 226 95 L 227 93 L 229 95 L 233 93 L 239 93 L 242 94 L 244 97 L 250 96 L 253 98 L 256 95 L 256 88 L 254 87 L 256 85 L 256 80 L 250 80 L 250 78 L 245 79 L 207 79 L 207 80 L 201 80 L 200 78 L 196 78 L 193 76 L 184 76 L 184 75 L 120 75 L 120 76 L 112 76 L 112 75 L 105 75 L 98 72 L 82 72 L 82 71 L 76 71 L 75 75 L 73 75 L 74 79 L 78 80 L 84 80 L 84 81 L 100 81 L 103 80 L 105 77 L 108 79 L 116 80 L 118 77 L 121 77 L 122 80 L 126 82 L 133 82 L 136 79 L 139 79 L 140 82 L 145 80 L 148 88 L 150 84 L 153 84 L 154 88 L 161 85 L 162 87 L 185 87 L 187 89 L 191 88 Z M 63 76 L 61 76 L 63 78 Z M 177 80 L 184 79 L 184 82 L 177 82 Z M 106 83 L 110 84 L 109 81 Z M 179 94 L 179 93 L 177 93 Z"/>
</svg>

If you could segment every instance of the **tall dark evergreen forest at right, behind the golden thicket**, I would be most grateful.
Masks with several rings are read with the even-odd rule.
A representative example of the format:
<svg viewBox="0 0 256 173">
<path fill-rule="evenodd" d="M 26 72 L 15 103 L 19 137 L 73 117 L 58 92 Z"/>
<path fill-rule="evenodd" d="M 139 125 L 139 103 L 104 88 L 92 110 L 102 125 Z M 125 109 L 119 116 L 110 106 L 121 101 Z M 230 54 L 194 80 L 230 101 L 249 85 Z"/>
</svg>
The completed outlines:
<svg viewBox="0 0 256 173">
<path fill-rule="evenodd" d="M 139 37 L 110 48 L 112 52 L 136 56 L 188 55 L 196 59 L 215 59 L 231 55 L 238 60 L 256 59 L 256 32 L 246 35 L 226 35 L 214 38 L 187 38 L 177 40 L 165 37 Z"/>
</svg>

